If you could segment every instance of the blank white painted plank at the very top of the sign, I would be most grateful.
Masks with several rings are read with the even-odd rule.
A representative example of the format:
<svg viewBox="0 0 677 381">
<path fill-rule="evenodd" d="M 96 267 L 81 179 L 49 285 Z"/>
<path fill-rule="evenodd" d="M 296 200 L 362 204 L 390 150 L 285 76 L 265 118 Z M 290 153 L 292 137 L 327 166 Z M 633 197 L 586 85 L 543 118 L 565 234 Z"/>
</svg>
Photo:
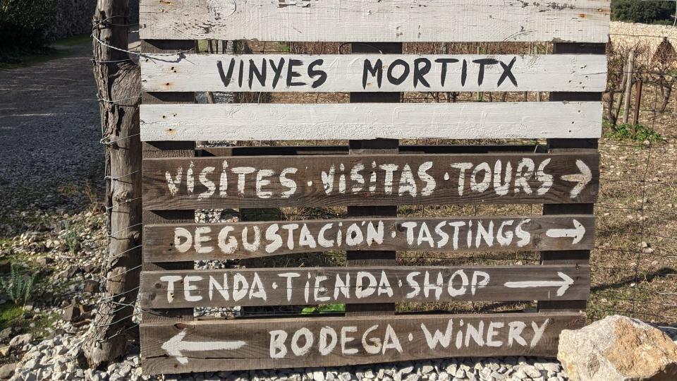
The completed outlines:
<svg viewBox="0 0 677 381">
<path fill-rule="evenodd" d="M 141 0 L 142 39 L 606 42 L 609 0 Z"/>
</svg>

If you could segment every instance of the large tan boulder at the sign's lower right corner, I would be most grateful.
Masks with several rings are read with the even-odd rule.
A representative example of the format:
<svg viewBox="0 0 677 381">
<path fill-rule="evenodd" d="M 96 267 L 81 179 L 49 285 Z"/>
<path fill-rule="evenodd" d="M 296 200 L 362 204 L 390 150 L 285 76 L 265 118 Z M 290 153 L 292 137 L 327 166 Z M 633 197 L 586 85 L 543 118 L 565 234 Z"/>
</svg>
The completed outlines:
<svg viewBox="0 0 677 381">
<path fill-rule="evenodd" d="M 624 316 L 562 331 L 557 358 L 573 381 L 677 380 L 677 344 Z"/>
</svg>

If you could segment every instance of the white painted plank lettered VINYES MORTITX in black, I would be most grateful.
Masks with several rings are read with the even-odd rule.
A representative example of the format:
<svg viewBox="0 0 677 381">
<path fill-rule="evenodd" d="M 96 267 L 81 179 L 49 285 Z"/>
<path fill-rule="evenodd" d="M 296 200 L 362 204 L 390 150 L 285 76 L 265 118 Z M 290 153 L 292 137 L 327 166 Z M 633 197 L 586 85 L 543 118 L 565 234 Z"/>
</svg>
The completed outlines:
<svg viewBox="0 0 677 381">
<path fill-rule="evenodd" d="M 604 54 L 186 54 L 140 59 L 146 91 L 604 91 Z M 240 66 L 242 70 L 240 70 Z"/>
</svg>

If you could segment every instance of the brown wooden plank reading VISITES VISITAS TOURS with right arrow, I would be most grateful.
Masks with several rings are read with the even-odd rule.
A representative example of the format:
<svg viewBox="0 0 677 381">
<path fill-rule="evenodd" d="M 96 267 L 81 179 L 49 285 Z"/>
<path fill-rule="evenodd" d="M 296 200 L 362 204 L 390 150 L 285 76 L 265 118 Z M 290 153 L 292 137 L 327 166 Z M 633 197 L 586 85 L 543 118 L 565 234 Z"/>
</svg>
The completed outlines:
<svg viewBox="0 0 677 381">
<path fill-rule="evenodd" d="M 595 153 L 145 159 L 144 207 L 594 202 Z"/>
</svg>

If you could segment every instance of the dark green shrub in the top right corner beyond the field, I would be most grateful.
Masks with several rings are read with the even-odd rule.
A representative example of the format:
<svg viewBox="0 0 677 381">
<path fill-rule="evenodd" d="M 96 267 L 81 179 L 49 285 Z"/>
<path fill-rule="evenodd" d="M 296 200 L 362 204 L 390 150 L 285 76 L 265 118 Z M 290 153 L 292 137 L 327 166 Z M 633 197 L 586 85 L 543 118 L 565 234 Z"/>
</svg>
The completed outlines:
<svg viewBox="0 0 677 381">
<path fill-rule="evenodd" d="M 643 24 L 672 24 L 673 1 L 611 0 L 611 20 Z"/>
</svg>

